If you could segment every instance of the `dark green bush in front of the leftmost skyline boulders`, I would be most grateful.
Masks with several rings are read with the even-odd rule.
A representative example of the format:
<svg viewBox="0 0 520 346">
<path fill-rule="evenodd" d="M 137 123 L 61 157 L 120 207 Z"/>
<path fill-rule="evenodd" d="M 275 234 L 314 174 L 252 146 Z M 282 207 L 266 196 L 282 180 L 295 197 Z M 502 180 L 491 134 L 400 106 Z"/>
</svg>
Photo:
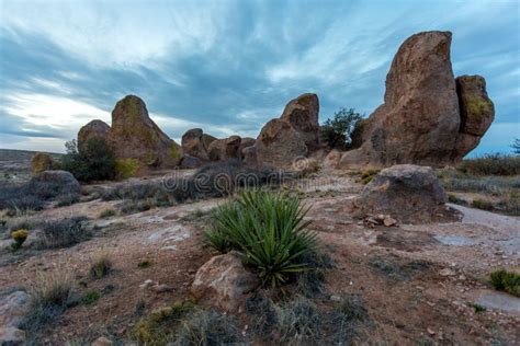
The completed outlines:
<svg viewBox="0 0 520 346">
<path fill-rule="evenodd" d="M 61 166 L 80 182 L 112 180 L 115 176 L 115 158 L 102 139 L 89 139 L 78 147 L 76 140 L 68 141 Z"/>
</svg>

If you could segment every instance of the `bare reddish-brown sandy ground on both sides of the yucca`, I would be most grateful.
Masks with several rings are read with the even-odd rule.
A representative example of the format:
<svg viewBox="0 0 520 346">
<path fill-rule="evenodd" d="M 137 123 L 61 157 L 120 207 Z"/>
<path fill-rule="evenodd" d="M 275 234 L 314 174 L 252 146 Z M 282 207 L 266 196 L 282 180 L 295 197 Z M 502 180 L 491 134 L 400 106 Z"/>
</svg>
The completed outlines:
<svg viewBox="0 0 520 346">
<path fill-rule="evenodd" d="M 375 322 L 370 341 L 392 345 L 419 343 L 520 343 L 519 298 L 496 292 L 487 284 L 498 267 L 520 265 L 520 220 L 487 211 L 459 209 L 461 222 L 368 228 L 353 219 L 348 206 L 362 185 L 347 174 L 318 175 L 298 187 L 310 206 L 308 219 L 336 267 L 326 277 L 327 295 L 361 293 Z M 93 200 L 45 210 L 41 218 L 86 215 L 100 229 L 76 246 L 1 253 L 0 291 L 30 285 L 35 274 L 66 263 L 75 270 L 80 293 L 105 290 L 93 305 L 78 305 L 47 326 L 43 343 L 91 342 L 105 335 L 125 339 L 145 311 L 189 298 L 196 269 L 215 253 L 202 238 L 217 199 L 154 209 L 124 217 L 98 219 L 114 201 Z M 88 280 L 91 257 L 110 252 L 114 272 Z M 148 268 L 138 264 L 149 261 Z M 139 288 L 151 279 L 173 288 L 156 292 Z M 468 303 L 487 308 L 475 312 Z"/>
</svg>

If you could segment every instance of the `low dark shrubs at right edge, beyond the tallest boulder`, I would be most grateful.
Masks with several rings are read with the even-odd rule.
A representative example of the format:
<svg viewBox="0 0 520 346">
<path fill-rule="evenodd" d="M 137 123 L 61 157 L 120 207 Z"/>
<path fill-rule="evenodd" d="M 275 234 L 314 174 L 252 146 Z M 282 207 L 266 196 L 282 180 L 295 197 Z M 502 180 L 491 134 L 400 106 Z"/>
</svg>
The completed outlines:
<svg viewBox="0 0 520 346">
<path fill-rule="evenodd" d="M 518 175 L 520 174 L 520 157 L 486 154 L 481 158 L 465 159 L 457 169 L 472 175 Z"/>
</svg>

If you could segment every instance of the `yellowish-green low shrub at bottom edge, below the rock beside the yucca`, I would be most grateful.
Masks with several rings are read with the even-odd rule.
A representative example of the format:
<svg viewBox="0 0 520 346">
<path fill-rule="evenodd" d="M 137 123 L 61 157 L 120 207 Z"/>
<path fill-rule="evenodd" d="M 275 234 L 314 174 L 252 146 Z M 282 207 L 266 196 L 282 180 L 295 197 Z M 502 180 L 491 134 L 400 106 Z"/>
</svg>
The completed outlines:
<svg viewBox="0 0 520 346">
<path fill-rule="evenodd" d="M 137 323 L 131 336 L 145 345 L 169 345 L 173 342 L 182 319 L 193 309 L 193 303 L 186 301 L 155 310 Z"/>
</svg>

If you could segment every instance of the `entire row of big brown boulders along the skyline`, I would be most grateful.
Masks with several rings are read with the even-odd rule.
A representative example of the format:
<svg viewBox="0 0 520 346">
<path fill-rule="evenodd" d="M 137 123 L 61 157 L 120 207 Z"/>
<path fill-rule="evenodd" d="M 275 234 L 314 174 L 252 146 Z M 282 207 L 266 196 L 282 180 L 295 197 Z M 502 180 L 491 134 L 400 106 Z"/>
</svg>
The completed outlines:
<svg viewBox="0 0 520 346">
<path fill-rule="evenodd" d="M 495 109 L 479 76 L 453 76 L 450 32 L 412 35 L 399 47 L 388 74 L 384 104 L 355 129 L 354 150 L 331 150 L 331 168 L 387 166 L 400 163 L 444 165 L 473 150 L 489 128 Z M 200 128 L 188 130 L 179 146 L 150 119 L 145 103 L 126 96 L 112 112 L 112 126 L 93 120 L 81 128 L 78 146 L 104 139 L 116 158 L 136 159 L 142 168 L 193 169 L 227 159 L 246 164 L 291 169 L 301 158 L 318 157 L 319 101 L 303 94 L 269 120 L 259 136 L 217 139 Z"/>
</svg>

